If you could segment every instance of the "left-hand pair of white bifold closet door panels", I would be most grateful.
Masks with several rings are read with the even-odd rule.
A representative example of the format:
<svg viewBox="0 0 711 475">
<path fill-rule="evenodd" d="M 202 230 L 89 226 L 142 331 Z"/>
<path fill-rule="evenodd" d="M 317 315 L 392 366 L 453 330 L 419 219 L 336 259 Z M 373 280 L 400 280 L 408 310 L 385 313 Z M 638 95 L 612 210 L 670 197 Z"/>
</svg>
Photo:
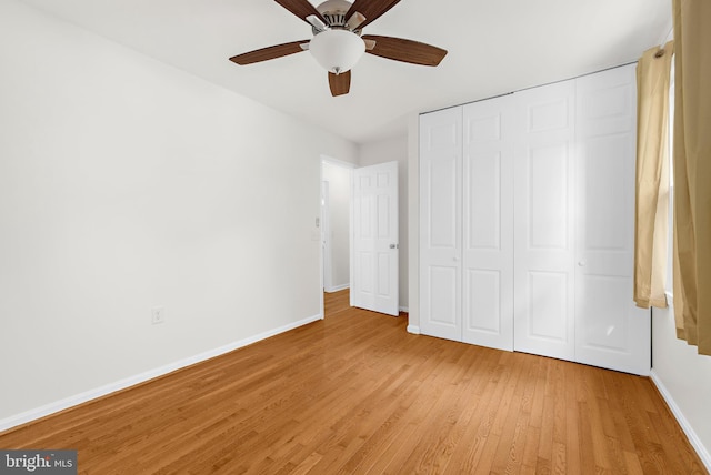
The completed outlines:
<svg viewBox="0 0 711 475">
<path fill-rule="evenodd" d="M 422 333 L 513 350 L 511 97 L 420 122 Z"/>
</svg>

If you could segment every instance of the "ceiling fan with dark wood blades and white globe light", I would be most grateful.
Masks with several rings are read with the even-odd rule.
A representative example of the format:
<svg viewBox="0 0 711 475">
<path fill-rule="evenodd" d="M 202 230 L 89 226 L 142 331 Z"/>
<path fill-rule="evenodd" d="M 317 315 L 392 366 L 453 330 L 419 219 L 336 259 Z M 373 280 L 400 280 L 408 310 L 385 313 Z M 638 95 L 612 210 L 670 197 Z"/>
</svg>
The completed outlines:
<svg viewBox="0 0 711 475">
<path fill-rule="evenodd" d="M 230 58 L 237 64 L 252 64 L 309 50 L 329 72 L 331 95 L 348 94 L 351 68 L 367 52 L 412 64 L 435 67 L 447 50 L 402 38 L 362 34 L 362 29 L 400 0 L 327 0 L 318 7 L 308 0 L 276 0 L 311 26 L 311 40 L 292 41 Z"/>
</svg>

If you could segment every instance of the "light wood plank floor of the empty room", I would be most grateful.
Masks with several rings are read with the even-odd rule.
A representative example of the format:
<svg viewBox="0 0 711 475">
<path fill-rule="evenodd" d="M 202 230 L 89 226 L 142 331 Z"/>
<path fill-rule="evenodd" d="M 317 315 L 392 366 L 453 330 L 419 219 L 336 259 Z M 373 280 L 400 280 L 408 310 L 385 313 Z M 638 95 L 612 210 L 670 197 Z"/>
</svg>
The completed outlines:
<svg viewBox="0 0 711 475">
<path fill-rule="evenodd" d="M 0 434 L 81 474 L 704 474 L 644 377 L 327 319 Z"/>
</svg>

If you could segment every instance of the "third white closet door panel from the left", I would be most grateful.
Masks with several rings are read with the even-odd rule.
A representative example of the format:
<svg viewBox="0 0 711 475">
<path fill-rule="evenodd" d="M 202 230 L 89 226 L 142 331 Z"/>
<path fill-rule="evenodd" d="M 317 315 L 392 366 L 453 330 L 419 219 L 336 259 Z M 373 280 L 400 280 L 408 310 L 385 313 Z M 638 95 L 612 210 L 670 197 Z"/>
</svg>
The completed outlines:
<svg viewBox="0 0 711 475">
<path fill-rule="evenodd" d="M 515 94 L 514 350 L 574 358 L 574 81 Z"/>
</svg>

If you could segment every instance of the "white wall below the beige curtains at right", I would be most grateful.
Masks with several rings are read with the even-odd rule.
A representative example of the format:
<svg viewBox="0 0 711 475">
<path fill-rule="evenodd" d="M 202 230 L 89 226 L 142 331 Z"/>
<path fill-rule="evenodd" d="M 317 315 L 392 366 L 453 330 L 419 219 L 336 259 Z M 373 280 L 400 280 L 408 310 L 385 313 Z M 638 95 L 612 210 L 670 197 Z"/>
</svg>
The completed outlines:
<svg viewBox="0 0 711 475">
<path fill-rule="evenodd" d="M 652 380 L 711 471 L 711 356 L 677 338 L 670 302 L 652 310 Z"/>
</svg>

